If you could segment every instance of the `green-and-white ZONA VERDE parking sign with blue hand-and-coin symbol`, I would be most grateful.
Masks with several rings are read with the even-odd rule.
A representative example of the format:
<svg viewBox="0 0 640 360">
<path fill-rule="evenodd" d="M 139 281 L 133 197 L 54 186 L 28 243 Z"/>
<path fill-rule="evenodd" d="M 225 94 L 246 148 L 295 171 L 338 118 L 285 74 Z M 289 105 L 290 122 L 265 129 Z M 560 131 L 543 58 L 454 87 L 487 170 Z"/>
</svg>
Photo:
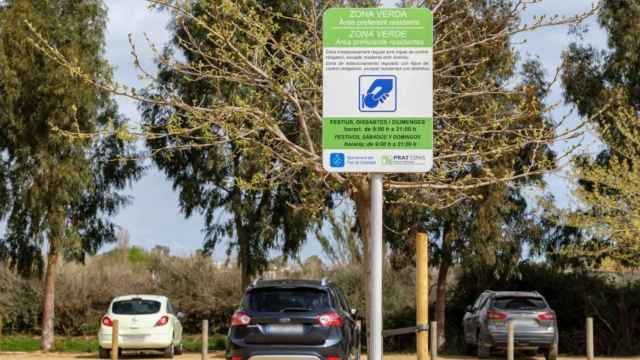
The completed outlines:
<svg viewBox="0 0 640 360">
<path fill-rule="evenodd" d="M 433 163 L 433 17 L 329 9 L 323 23 L 323 164 L 426 172 Z"/>
</svg>

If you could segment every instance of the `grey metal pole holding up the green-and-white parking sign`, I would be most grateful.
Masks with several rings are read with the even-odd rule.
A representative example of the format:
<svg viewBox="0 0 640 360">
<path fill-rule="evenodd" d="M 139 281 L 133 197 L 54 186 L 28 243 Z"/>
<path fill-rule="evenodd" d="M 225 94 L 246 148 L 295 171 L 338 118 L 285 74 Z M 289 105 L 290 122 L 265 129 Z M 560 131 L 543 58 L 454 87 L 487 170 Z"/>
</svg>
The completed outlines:
<svg viewBox="0 0 640 360">
<path fill-rule="evenodd" d="M 371 349 L 369 360 L 382 360 L 382 174 L 371 174 L 371 244 L 369 266 L 369 319 L 371 319 Z"/>
</svg>

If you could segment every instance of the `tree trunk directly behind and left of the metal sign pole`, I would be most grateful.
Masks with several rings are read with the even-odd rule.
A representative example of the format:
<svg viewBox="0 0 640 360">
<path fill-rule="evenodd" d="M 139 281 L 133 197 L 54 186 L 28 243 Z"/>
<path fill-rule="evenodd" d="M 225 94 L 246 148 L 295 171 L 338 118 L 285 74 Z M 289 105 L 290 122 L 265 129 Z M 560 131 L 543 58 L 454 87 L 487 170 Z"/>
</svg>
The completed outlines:
<svg viewBox="0 0 640 360">
<path fill-rule="evenodd" d="M 370 320 L 372 314 L 369 313 L 369 279 L 371 279 L 371 269 L 369 268 L 369 259 L 371 258 L 371 182 L 367 176 L 359 177 L 355 183 L 355 193 L 353 194 L 353 200 L 356 204 L 356 215 L 358 218 L 358 225 L 360 226 L 360 234 L 362 235 L 362 266 L 364 267 L 365 276 L 362 278 L 362 288 L 365 290 L 365 324 L 367 327 L 367 349 L 371 348 L 369 340 L 370 332 Z"/>
</svg>

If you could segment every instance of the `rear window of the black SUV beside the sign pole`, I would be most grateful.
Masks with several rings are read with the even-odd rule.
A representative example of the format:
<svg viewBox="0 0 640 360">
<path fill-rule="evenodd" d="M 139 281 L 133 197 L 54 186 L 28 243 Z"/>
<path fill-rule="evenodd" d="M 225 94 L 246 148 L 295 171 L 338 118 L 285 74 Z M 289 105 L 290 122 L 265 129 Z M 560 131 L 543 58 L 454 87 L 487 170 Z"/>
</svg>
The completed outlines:
<svg viewBox="0 0 640 360">
<path fill-rule="evenodd" d="M 331 307 L 329 293 L 313 288 L 263 288 L 250 291 L 244 306 L 256 312 L 324 311 Z"/>
</svg>

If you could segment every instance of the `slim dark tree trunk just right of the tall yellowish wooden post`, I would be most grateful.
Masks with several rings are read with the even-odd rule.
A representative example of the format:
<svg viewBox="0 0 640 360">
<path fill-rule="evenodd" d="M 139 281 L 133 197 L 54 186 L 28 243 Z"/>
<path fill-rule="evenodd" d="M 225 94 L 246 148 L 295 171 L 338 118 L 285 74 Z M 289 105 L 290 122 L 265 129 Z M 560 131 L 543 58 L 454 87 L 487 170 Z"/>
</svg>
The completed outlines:
<svg viewBox="0 0 640 360">
<path fill-rule="evenodd" d="M 436 321 L 438 323 L 438 349 L 444 350 L 445 337 L 445 312 L 447 308 L 447 275 L 451 266 L 451 224 L 447 223 L 442 232 L 442 258 L 438 269 L 438 284 L 436 287 Z"/>
</svg>

